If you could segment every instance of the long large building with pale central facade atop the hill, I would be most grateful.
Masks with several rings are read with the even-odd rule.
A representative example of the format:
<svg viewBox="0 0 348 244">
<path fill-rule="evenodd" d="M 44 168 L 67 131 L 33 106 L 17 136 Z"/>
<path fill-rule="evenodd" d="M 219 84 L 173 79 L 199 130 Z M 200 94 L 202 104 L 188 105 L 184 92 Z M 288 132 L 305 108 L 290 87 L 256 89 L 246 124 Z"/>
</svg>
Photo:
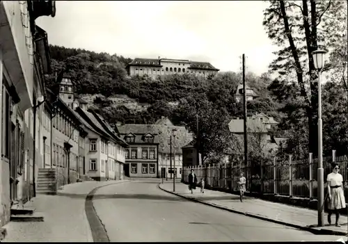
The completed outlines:
<svg viewBox="0 0 348 244">
<path fill-rule="evenodd" d="M 167 59 L 158 57 L 135 58 L 132 63 L 126 67 L 129 76 L 138 74 L 143 76 L 166 75 L 166 74 L 196 74 L 198 76 L 208 77 L 219 72 L 216 67 L 207 62 L 193 62 L 182 59 Z"/>
</svg>

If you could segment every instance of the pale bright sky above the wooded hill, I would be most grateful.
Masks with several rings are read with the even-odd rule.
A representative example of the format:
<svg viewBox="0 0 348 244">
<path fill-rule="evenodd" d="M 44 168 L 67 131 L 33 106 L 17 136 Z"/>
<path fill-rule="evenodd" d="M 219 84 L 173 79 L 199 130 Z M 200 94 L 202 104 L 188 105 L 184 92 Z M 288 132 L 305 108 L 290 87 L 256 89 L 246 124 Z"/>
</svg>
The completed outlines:
<svg viewBox="0 0 348 244">
<path fill-rule="evenodd" d="M 276 50 L 264 1 L 56 1 L 39 17 L 50 44 L 122 55 L 209 62 L 221 72 L 267 72 Z"/>
</svg>

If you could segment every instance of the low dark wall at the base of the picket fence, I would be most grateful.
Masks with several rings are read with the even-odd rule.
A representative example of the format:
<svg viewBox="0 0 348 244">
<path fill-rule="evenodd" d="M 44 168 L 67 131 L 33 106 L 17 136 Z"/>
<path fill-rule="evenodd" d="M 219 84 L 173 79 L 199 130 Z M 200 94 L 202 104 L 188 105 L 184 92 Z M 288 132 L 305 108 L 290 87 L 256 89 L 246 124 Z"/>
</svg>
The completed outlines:
<svg viewBox="0 0 348 244">
<path fill-rule="evenodd" d="M 183 182 L 184 184 L 187 184 L 187 182 Z M 198 183 L 197 186 L 200 187 L 200 184 Z M 205 185 L 205 189 L 207 190 L 216 190 L 221 191 L 224 193 L 230 193 L 234 195 L 239 195 L 238 190 L 230 190 L 229 188 L 221 188 L 216 186 L 209 186 Z M 248 197 L 255 197 L 260 198 L 262 200 L 266 200 L 269 202 L 279 202 L 281 204 L 287 204 L 291 206 L 300 206 L 307 209 L 313 209 L 317 210 L 317 200 L 316 199 L 309 199 L 309 198 L 302 198 L 302 197 L 290 197 L 290 196 L 284 196 L 284 195 L 274 195 L 273 193 L 253 193 L 253 192 L 245 192 L 244 195 Z M 347 203 L 347 200 L 346 200 Z M 324 208 L 324 211 L 327 211 L 326 206 Z M 341 214 L 347 215 L 347 208 L 340 210 Z"/>
</svg>

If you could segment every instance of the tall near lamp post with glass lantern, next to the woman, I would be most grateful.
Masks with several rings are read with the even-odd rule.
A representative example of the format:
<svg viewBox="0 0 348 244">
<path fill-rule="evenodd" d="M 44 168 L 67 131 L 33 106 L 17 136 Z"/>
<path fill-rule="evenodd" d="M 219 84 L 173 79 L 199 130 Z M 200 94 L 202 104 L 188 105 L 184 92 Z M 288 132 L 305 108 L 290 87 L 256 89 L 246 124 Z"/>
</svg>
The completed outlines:
<svg viewBox="0 0 348 244">
<path fill-rule="evenodd" d="M 313 51 L 313 63 L 318 71 L 318 169 L 317 169 L 317 196 L 318 196 L 318 226 L 324 226 L 324 168 L 323 168 L 323 138 L 322 138 L 322 83 L 320 76 L 325 64 L 324 50 Z"/>
</svg>

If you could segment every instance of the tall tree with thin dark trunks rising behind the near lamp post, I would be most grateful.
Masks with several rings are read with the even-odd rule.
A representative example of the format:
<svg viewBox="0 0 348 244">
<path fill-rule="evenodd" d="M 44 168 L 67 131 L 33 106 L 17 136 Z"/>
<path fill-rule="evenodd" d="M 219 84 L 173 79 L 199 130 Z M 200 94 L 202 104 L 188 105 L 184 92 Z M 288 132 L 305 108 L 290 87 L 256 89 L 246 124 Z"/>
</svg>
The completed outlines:
<svg viewBox="0 0 348 244">
<path fill-rule="evenodd" d="M 317 72 L 311 53 L 324 43 L 331 48 L 330 35 L 340 31 L 347 1 L 268 1 L 263 25 L 280 49 L 271 63 L 282 81 L 294 80 L 305 102 L 308 119 L 308 148 L 317 154 Z M 332 67 L 327 65 L 326 67 Z"/>
</svg>

